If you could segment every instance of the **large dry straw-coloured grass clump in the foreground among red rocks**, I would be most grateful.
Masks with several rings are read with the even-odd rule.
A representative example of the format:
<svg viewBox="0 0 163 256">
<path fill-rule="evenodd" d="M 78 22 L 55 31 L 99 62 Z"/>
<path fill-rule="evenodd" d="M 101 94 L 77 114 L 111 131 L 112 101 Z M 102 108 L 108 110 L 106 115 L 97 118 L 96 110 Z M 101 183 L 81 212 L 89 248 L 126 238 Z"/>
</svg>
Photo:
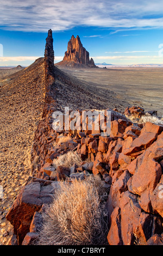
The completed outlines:
<svg viewBox="0 0 163 256">
<path fill-rule="evenodd" d="M 43 214 L 39 245 L 104 245 L 108 233 L 103 181 L 96 176 L 60 181 Z"/>
</svg>

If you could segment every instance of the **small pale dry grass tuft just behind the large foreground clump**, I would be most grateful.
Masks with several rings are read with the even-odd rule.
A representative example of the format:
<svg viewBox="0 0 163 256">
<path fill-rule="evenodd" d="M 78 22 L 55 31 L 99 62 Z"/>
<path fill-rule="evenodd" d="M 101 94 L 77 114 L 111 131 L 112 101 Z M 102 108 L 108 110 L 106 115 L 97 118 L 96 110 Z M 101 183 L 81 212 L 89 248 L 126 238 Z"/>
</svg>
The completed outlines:
<svg viewBox="0 0 163 256">
<path fill-rule="evenodd" d="M 80 163 L 82 163 L 82 159 L 76 151 L 68 151 L 68 153 L 60 155 L 57 159 L 53 160 L 53 165 L 55 168 L 58 166 L 70 168 L 74 163 L 76 163 L 78 166 Z"/>
</svg>

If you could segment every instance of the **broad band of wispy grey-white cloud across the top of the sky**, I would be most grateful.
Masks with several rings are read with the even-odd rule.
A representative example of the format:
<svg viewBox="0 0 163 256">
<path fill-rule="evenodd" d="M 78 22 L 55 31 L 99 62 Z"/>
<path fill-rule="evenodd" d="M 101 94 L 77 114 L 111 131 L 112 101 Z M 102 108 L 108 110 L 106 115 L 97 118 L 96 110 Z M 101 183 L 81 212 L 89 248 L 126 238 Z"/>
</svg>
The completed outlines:
<svg viewBox="0 0 163 256">
<path fill-rule="evenodd" d="M 0 28 L 11 31 L 64 31 L 76 26 L 124 29 L 163 28 L 163 0 L 6 0 Z M 125 36 L 125 35 L 124 35 Z M 127 36 L 127 35 L 126 35 Z"/>
</svg>

